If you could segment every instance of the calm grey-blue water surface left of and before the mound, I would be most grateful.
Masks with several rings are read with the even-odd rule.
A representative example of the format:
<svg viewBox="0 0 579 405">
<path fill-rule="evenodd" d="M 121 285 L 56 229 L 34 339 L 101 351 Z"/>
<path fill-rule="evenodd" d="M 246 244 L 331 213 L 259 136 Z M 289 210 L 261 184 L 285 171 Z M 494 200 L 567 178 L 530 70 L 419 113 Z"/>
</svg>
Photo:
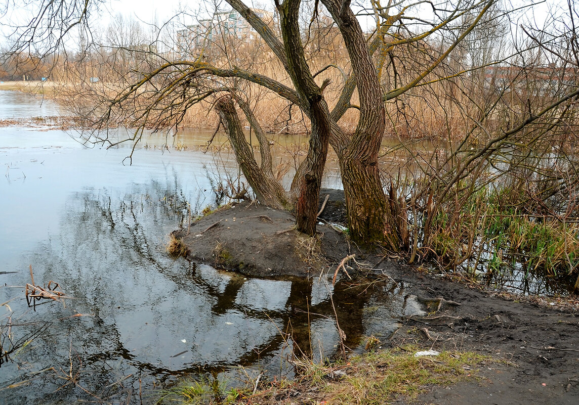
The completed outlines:
<svg viewBox="0 0 579 405">
<path fill-rule="evenodd" d="M 56 112 L 0 91 L 2 117 Z M 338 351 L 330 294 L 351 348 L 388 336 L 410 311 L 400 286 L 361 293 L 170 259 L 167 234 L 186 222 L 188 204 L 212 202 L 206 168 L 219 161 L 236 172 L 230 157 L 148 148 L 123 165 L 129 149 L 76 138 L 0 128 L 0 341 L 19 347 L 0 364 L 0 404 L 155 403 L 159 389 L 187 378 L 291 373 L 283 359 L 297 346 L 318 358 Z M 58 282 L 75 299 L 29 308 L 29 266 L 36 285 Z"/>
</svg>

